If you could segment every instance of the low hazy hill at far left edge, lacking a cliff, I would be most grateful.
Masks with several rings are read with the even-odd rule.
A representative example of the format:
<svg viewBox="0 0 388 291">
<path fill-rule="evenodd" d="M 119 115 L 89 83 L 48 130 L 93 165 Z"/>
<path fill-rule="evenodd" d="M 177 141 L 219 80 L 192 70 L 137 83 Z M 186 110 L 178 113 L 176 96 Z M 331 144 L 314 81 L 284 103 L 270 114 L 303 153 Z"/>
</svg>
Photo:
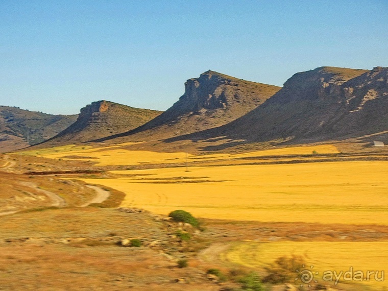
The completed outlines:
<svg viewBox="0 0 388 291">
<path fill-rule="evenodd" d="M 49 139 L 77 119 L 77 115 L 52 115 L 0 106 L 0 152 L 10 152 Z"/>
</svg>

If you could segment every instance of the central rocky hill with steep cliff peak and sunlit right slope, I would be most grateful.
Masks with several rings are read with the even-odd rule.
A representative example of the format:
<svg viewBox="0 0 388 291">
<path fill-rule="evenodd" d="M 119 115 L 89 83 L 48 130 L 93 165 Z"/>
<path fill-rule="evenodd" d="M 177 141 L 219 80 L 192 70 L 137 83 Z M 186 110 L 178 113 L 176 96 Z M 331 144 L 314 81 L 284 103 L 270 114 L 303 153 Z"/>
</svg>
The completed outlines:
<svg viewBox="0 0 388 291">
<path fill-rule="evenodd" d="M 185 93 L 150 122 L 107 139 L 155 140 L 225 125 L 275 94 L 280 87 L 208 70 L 185 83 Z M 125 138 L 124 138 L 125 137 Z M 102 139 L 99 141 L 103 141 Z"/>
</svg>

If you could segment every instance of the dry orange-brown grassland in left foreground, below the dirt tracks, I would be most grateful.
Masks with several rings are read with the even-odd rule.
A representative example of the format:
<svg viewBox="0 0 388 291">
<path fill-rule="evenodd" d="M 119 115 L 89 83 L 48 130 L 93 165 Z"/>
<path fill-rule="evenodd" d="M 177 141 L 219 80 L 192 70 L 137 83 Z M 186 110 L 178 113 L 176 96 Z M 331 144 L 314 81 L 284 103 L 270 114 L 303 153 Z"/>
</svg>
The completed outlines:
<svg viewBox="0 0 388 291">
<path fill-rule="evenodd" d="M 139 238 L 174 252 L 167 223 L 152 214 L 73 208 L 0 217 L 0 288 L 6 290 L 218 290 L 196 268 L 177 268 L 156 246 L 123 248 Z M 176 252 L 176 251 L 175 251 Z M 180 253 L 179 253 L 180 254 Z M 184 284 L 176 283 L 184 278 Z"/>
</svg>

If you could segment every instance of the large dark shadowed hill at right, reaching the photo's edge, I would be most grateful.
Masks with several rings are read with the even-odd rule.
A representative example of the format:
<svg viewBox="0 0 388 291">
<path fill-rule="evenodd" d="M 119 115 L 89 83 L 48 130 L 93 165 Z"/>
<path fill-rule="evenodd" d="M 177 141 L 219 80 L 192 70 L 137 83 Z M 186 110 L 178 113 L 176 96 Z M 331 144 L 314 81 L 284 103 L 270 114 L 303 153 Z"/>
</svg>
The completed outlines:
<svg viewBox="0 0 388 291">
<path fill-rule="evenodd" d="M 172 138 L 314 142 L 388 130 L 388 68 L 319 67 L 288 79 L 272 98 L 233 122 Z"/>
</svg>

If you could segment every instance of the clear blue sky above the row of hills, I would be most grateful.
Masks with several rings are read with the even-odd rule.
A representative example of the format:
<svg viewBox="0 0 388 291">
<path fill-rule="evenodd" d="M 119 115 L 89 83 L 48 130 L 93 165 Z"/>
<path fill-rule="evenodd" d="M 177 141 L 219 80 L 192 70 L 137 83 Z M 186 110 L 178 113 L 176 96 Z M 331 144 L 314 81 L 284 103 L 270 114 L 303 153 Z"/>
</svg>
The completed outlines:
<svg viewBox="0 0 388 291">
<path fill-rule="evenodd" d="M 319 66 L 388 66 L 388 1 L 0 1 L 0 105 L 165 110 L 208 69 L 281 86 Z"/>
</svg>

